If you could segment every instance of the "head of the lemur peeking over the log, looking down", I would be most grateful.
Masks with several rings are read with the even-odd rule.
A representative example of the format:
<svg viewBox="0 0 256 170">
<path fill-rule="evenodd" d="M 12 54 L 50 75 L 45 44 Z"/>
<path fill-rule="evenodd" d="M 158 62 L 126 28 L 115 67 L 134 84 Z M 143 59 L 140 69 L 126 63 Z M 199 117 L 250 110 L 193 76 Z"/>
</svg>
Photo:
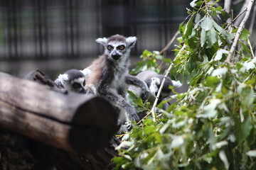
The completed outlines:
<svg viewBox="0 0 256 170">
<path fill-rule="evenodd" d="M 84 94 L 85 91 L 85 74 L 78 69 L 70 69 L 64 74 L 60 74 L 55 84 L 68 91 Z"/>
</svg>

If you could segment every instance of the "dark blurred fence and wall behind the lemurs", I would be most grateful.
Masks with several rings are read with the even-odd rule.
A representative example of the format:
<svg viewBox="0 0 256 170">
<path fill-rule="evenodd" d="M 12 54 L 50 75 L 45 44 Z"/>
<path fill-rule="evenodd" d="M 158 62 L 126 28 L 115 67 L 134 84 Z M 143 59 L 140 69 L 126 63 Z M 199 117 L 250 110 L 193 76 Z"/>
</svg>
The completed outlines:
<svg viewBox="0 0 256 170">
<path fill-rule="evenodd" d="M 137 36 L 134 64 L 145 49 L 161 50 L 169 42 L 190 2 L 0 0 L 0 72 L 23 77 L 39 68 L 55 79 L 68 69 L 87 67 L 103 52 L 95 39 L 117 33 Z M 238 13 L 242 1 L 236 6 Z"/>
</svg>

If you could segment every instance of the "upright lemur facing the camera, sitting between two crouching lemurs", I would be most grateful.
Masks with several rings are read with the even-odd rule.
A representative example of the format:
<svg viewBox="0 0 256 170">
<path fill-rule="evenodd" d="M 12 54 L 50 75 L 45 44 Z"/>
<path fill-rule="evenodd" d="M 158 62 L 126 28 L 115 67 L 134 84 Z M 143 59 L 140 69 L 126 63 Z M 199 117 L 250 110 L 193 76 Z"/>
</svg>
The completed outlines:
<svg viewBox="0 0 256 170">
<path fill-rule="evenodd" d="M 90 71 L 90 74 L 87 74 L 85 90 L 92 94 L 106 96 L 115 106 L 121 110 L 124 109 L 124 112 L 119 115 L 121 124 L 127 120 L 139 121 L 136 109 L 124 98 L 127 84 L 139 86 L 142 89 L 142 98 L 149 97 L 149 88 L 146 83 L 129 75 L 129 53 L 136 41 L 136 37 L 124 38 L 122 35 L 98 38 L 96 42 L 105 47 L 105 52 L 84 69 L 84 71 Z"/>
</svg>

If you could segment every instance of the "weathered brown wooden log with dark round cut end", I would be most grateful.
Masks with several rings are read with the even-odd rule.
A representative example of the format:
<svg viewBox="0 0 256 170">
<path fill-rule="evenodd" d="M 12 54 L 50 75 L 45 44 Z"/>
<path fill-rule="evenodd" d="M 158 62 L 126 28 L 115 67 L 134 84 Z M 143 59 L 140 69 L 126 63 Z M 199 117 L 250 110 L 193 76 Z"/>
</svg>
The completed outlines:
<svg viewBox="0 0 256 170">
<path fill-rule="evenodd" d="M 118 128 L 105 98 L 61 93 L 1 72 L 0 125 L 68 152 L 95 151 Z"/>
</svg>

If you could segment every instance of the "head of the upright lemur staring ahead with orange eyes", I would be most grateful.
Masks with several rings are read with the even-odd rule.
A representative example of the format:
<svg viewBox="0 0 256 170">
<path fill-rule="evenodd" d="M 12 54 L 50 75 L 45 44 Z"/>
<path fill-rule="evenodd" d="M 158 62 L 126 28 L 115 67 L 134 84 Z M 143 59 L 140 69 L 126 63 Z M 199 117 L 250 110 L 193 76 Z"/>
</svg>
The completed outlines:
<svg viewBox="0 0 256 170">
<path fill-rule="evenodd" d="M 127 57 L 132 47 L 134 47 L 136 37 L 125 38 L 122 35 L 112 35 L 110 38 L 97 38 L 96 42 L 105 47 L 105 55 L 110 60 L 119 60 Z"/>
</svg>

